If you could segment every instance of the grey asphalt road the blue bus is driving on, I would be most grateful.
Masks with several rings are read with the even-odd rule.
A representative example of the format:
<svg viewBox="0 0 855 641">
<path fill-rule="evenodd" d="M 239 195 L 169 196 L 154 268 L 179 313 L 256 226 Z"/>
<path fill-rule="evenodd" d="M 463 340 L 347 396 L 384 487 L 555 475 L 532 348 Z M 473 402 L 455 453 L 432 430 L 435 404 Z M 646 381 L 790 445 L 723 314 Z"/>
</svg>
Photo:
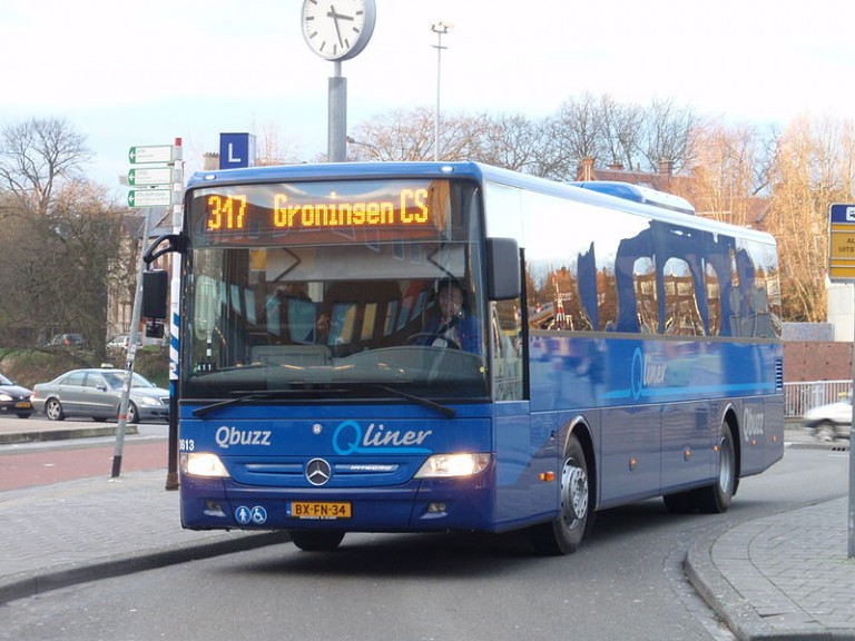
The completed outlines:
<svg viewBox="0 0 855 641">
<path fill-rule="evenodd" d="M 324 554 L 273 545 L 10 602 L 3 633 L 21 641 L 733 639 L 686 582 L 688 546 L 839 496 L 847 471 L 848 453 L 788 448 L 783 462 L 744 480 L 726 514 L 671 515 L 657 500 L 610 510 L 566 558 L 534 556 L 519 534 L 348 534 Z"/>
</svg>

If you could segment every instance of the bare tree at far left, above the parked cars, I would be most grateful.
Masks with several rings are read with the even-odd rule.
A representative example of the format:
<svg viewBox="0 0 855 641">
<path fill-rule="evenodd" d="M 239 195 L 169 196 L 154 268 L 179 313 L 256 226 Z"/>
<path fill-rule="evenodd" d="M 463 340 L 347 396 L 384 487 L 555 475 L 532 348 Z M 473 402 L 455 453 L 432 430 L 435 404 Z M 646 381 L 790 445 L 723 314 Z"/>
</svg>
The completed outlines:
<svg viewBox="0 0 855 641">
<path fill-rule="evenodd" d="M 0 277 L 16 283 L 0 303 L 0 329 L 19 343 L 81 332 L 104 345 L 109 265 L 118 217 L 106 189 L 80 177 L 90 158 L 65 120 L 0 130 Z"/>
</svg>

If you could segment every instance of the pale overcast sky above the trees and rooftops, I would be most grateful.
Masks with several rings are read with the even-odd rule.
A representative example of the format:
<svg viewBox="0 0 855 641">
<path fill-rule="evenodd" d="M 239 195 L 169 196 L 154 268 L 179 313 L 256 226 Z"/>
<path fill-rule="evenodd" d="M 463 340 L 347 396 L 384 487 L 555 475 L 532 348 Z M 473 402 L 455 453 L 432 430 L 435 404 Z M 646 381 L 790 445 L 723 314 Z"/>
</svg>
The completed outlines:
<svg viewBox="0 0 855 641">
<path fill-rule="evenodd" d="M 128 148 L 184 139 L 188 170 L 220 132 L 273 128 L 326 151 L 333 63 L 303 40 L 302 0 L 0 0 L 0 125 L 66 118 L 118 186 Z M 347 78 L 348 128 L 436 100 L 443 112 L 553 114 L 582 92 L 675 99 L 731 121 L 855 117 L 849 0 L 376 0 Z"/>
</svg>

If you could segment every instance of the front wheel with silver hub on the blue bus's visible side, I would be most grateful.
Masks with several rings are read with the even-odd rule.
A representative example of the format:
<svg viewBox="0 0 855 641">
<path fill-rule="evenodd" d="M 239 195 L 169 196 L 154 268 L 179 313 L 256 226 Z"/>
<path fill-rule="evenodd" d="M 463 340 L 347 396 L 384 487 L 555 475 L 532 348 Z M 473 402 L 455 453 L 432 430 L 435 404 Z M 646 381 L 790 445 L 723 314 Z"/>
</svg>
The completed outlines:
<svg viewBox="0 0 855 641">
<path fill-rule="evenodd" d="M 561 511 L 558 516 L 551 523 L 537 525 L 531 531 L 534 546 L 542 554 L 556 556 L 576 552 L 593 525 L 588 461 L 576 436 L 571 436 L 567 443 L 560 499 Z"/>
</svg>

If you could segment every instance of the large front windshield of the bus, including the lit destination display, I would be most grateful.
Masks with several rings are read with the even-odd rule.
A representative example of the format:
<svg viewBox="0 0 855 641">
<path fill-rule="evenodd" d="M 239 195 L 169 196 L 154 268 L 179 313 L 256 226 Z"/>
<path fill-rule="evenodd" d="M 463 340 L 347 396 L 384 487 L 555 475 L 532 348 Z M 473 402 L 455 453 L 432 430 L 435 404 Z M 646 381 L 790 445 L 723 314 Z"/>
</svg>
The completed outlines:
<svg viewBox="0 0 855 641">
<path fill-rule="evenodd" d="M 183 397 L 487 396 L 474 183 L 203 186 L 188 203 Z"/>
</svg>

